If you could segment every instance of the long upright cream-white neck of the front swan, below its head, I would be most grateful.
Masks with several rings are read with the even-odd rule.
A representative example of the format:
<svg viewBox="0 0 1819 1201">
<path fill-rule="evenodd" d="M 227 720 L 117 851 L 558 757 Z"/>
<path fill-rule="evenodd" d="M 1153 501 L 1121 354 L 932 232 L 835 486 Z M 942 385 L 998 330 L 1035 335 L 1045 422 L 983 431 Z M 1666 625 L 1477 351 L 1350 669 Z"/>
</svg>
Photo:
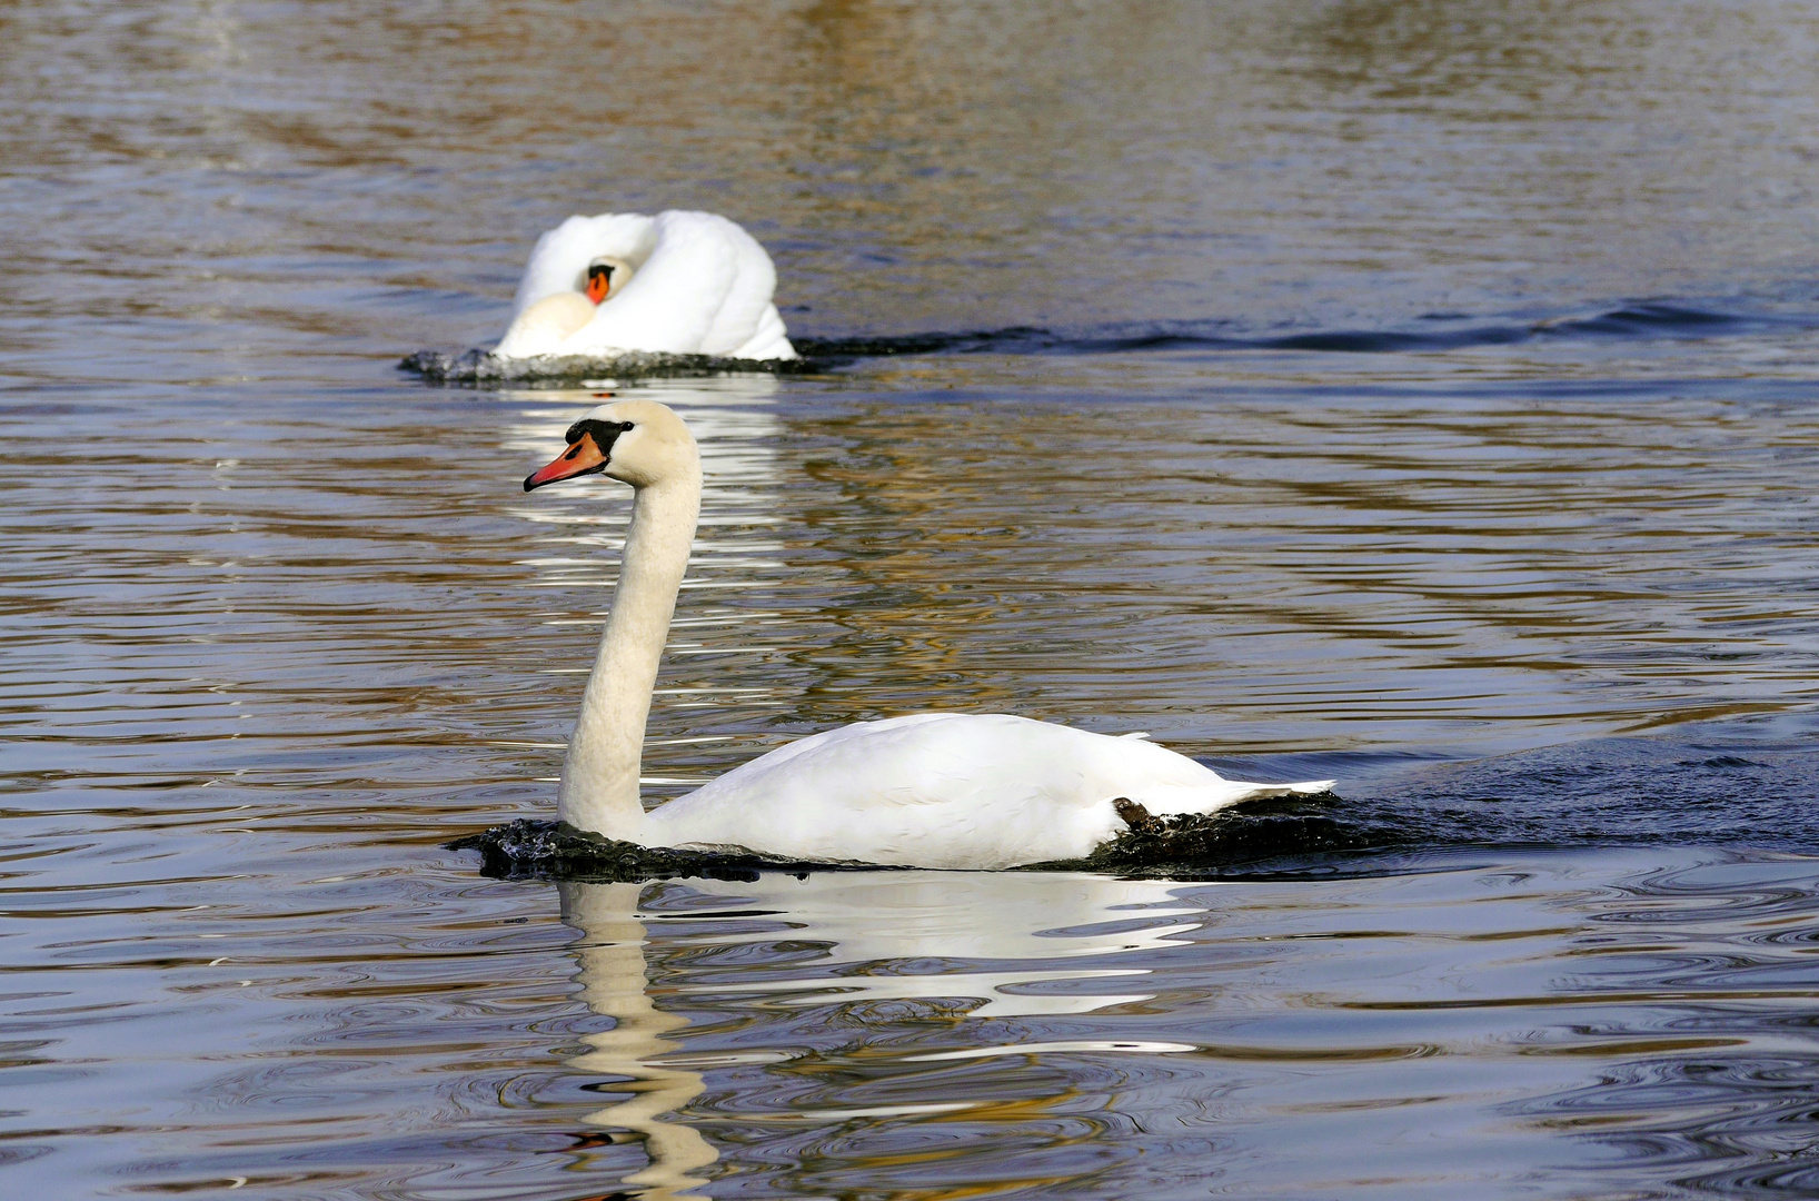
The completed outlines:
<svg viewBox="0 0 1819 1201">
<path fill-rule="evenodd" d="M 700 515 L 700 466 L 640 488 L 600 651 L 562 762 L 557 813 L 580 830 L 638 841 L 638 762 L 657 664 Z"/>
</svg>

